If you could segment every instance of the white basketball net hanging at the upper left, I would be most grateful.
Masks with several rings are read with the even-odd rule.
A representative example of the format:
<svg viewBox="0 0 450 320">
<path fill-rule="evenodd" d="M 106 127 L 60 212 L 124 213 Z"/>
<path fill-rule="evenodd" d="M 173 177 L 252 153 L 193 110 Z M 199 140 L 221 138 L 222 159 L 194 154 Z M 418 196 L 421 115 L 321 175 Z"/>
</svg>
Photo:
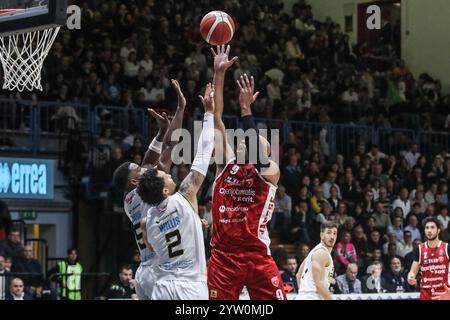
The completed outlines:
<svg viewBox="0 0 450 320">
<path fill-rule="evenodd" d="M 0 36 L 3 89 L 42 91 L 41 70 L 60 27 Z"/>
</svg>

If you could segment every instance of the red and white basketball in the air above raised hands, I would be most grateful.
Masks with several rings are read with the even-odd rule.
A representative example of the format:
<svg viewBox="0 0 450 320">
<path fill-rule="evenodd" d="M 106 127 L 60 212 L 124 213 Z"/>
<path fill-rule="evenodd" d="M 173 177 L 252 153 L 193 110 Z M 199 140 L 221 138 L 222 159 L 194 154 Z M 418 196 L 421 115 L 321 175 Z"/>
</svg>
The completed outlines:
<svg viewBox="0 0 450 320">
<path fill-rule="evenodd" d="M 234 35 L 233 19 L 223 11 L 211 11 L 200 22 L 200 33 L 213 46 L 226 44 Z"/>
</svg>

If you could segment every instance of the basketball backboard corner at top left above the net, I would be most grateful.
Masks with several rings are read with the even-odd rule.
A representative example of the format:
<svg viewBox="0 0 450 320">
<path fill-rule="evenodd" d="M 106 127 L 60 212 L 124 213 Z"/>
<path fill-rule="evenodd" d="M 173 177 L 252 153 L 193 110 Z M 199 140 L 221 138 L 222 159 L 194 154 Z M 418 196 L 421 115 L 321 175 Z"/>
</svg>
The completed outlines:
<svg viewBox="0 0 450 320">
<path fill-rule="evenodd" d="M 67 0 L 2 0 L 1 10 L 0 35 L 42 30 L 65 24 Z"/>
</svg>

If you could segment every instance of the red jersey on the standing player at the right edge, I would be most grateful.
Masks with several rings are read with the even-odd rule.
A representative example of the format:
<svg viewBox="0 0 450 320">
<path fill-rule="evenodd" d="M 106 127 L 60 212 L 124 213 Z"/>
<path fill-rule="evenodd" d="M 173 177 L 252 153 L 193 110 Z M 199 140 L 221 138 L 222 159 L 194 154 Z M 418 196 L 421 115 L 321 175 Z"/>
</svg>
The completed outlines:
<svg viewBox="0 0 450 320">
<path fill-rule="evenodd" d="M 436 248 L 428 242 L 422 243 L 420 250 L 420 299 L 429 300 L 433 292 L 444 291 L 444 284 L 450 284 L 448 243 L 441 241 Z"/>
</svg>

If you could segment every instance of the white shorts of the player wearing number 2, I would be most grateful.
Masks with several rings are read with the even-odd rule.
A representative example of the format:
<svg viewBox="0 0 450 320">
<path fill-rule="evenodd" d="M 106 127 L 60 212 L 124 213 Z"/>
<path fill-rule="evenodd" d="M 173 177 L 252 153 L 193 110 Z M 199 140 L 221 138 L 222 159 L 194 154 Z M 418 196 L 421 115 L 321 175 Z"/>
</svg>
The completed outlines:
<svg viewBox="0 0 450 320">
<path fill-rule="evenodd" d="M 153 289 L 152 300 L 208 300 L 206 281 L 160 280 Z"/>
</svg>

